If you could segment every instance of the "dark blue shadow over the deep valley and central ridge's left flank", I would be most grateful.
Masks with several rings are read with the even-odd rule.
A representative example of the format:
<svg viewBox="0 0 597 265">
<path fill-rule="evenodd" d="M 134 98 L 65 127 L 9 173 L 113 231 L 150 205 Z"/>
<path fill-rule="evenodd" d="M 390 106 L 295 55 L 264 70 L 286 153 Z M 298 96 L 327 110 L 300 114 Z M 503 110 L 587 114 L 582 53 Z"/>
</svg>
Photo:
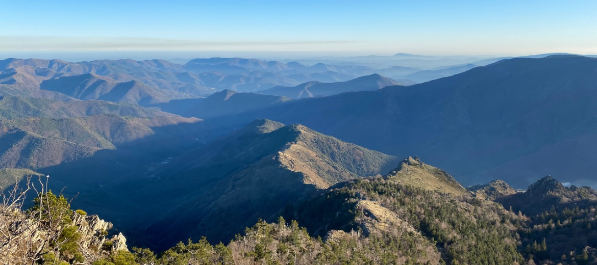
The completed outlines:
<svg viewBox="0 0 597 265">
<path fill-rule="evenodd" d="M 173 158 L 233 128 L 199 122 L 153 130 L 115 150 L 37 171 L 51 175 L 51 189 L 76 196 L 73 208 L 112 222 L 113 232 L 123 232 L 130 245 L 158 251 L 201 236 L 227 242 L 318 190 L 303 182 L 302 173 L 285 170 L 272 152 L 256 156 L 253 166 L 213 164 L 182 172 L 170 166 Z"/>
</svg>

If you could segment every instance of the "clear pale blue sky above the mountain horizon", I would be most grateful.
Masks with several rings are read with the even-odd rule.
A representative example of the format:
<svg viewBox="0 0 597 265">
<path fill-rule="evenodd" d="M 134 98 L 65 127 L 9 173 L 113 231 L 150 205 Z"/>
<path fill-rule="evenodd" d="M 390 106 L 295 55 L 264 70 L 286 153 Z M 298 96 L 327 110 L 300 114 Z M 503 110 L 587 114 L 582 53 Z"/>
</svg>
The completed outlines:
<svg viewBox="0 0 597 265">
<path fill-rule="evenodd" d="M 597 54 L 597 1 L 4 1 L 0 52 Z"/>
</svg>

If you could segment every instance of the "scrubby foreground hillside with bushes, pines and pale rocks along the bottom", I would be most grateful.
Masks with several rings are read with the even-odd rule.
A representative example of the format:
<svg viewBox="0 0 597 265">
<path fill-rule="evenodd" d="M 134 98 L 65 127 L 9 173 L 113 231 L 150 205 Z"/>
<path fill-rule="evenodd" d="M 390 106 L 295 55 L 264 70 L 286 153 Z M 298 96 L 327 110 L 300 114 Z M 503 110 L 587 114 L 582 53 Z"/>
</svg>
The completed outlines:
<svg viewBox="0 0 597 265">
<path fill-rule="evenodd" d="M 127 248 L 118 236 L 109 238 L 110 227 L 97 216 L 73 211 L 44 184 L 37 190 L 28 183 L 0 207 L 0 263 L 597 264 L 595 190 L 540 180 L 526 193 L 497 196 L 506 209 L 474 194 L 413 187 L 398 178 L 349 181 L 285 208 L 286 219 L 259 220 L 228 244 L 189 239 L 161 254 Z M 21 210 L 31 190 L 37 193 L 33 206 Z M 533 207 L 525 204 L 533 200 Z"/>
</svg>

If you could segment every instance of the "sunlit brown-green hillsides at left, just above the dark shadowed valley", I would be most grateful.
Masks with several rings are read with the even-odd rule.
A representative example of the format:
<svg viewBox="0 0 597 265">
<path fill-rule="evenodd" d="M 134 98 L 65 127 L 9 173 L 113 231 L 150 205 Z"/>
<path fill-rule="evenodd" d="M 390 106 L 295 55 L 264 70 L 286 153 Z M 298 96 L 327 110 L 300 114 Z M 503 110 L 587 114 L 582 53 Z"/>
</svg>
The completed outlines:
<svg viewBox="0 0 597 265">
<path fill-rule="evenodd" d="M 168 131 L 173 125 L 194 128 Z M 179 135 L 178 140 L 192 141 L 217 134 L 217 130 L 202 133 L 205 126 L 209 125 L 200 119 L 133 104 L 0 97 L 0 167 L 36 170 L 91 158 L 99 151 L 124 148 L 146 138 L 168 144 L 172 140 L 165 138 L 174 135 Z M 164 138 L 157 132 L 165 134 Z M 189 144 L 197 143 L 185 146 Z M 7 177 L 0 174 L 4 180 Z"/>
</svg>

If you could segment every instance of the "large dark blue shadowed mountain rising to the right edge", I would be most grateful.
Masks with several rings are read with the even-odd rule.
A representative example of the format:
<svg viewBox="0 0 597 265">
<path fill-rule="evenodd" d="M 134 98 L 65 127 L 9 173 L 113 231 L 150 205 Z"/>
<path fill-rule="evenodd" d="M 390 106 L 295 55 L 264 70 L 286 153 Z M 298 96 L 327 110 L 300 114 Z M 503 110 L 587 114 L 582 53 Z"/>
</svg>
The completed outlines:
<svg viewBox="0 0 597 265">
<path fill-rule="evenodd" d="M 568 181 L 597 171 L 587 161 L 596 143 L 595 65 L 597 59 L 580 56 L 513 58 L 423 84 L 288 101 L 219 122 L 301 122 L 370 149 L 420 155 L 466 184 L 501 177 L 523 186 L 533 180 L 529 172 Z M 562 159 L 577 166 L 564 170 L 557 166 Z"/>
</svg>

